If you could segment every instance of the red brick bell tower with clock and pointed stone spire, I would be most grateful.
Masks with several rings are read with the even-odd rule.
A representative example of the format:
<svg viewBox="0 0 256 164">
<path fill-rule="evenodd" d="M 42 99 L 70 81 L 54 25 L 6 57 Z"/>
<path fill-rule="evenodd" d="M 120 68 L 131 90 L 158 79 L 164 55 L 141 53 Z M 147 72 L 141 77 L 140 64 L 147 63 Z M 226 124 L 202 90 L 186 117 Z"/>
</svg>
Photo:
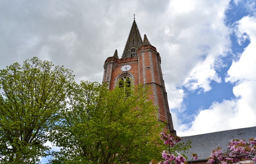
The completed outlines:
<svg viewBox="0 0 256 164">
<path fill-rule="evenodd" d="M 149 99 L 158 106 L 159 121 L 168 122 L 167 128 L 176 135 L 164 86 L 161 57 L 156 48 L 148 41 L 146 34 L 142 41 L 135 20 L 122 58 L 118 58 L 117 50 L 115 50 L 113 57 L 108 57 L 104 64 L 103 82 L 108 84 L 108 89 L 113 90 L 116 82 L 122 78 L 126 79 L 126 77 L 132 79 L 134 85 L 141 83 L 151 86 L 153 94 L 149 96 Z"/>
</svg>

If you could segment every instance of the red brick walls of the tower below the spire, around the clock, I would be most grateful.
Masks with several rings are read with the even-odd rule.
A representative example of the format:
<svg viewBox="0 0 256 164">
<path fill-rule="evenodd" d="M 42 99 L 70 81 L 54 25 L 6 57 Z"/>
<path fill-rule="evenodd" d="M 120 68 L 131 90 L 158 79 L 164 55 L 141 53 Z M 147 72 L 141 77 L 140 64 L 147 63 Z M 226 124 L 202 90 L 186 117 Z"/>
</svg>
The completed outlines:
<svg viewBox="0 0 256 164">
<path fill-rule="evenodd" d="M 156 48 L 152 45 L 143 45 L 137 51 L 137 57 L 129 57 L 118 59 L 117 57 L 109 57 L 104 64 L 103 82 L 109 84 L 109 89 L 113 90 L 117 80 L 124 75 L 133 78 L 134 85 L 139 83 L 150 85 L 153 94 L 149 95 L 149 99 L 153 100 L 154 105 L 158 106 L 159 120 L 168 122 L 170 131 L 176 135 L 173 128 L 171 114 L 167 100 L 167 93 L 164 86 L 161 58 Z M 121 71 L 123 65 L 132 66 L 127 72 Z"/>
</svg>

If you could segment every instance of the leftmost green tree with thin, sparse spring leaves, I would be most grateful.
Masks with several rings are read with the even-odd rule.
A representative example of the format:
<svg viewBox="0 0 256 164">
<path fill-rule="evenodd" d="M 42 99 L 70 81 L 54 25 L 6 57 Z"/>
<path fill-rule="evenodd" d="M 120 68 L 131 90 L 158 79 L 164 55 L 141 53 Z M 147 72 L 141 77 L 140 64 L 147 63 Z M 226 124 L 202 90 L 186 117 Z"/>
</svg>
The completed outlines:
<svg viewBox="0 0 256 164">
<path fill-rule="evenodd" d="M 0 163 L 38 163 L 66 107 L 72 71 L 34 57 L 0 70 Z"/>
</svg>

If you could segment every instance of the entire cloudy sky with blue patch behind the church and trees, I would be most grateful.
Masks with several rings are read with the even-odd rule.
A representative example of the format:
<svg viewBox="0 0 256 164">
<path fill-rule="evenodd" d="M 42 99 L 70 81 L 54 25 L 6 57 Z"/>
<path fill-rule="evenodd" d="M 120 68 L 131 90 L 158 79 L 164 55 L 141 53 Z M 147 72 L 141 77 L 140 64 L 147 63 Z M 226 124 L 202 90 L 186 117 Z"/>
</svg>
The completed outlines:
<svg viewBox="0 0 256 164">
<path fill-rule="evenodd" d="M 179 136 L 256 126 L 256 0 L 0 0 L 0 69 L 36 56 L 102 82 L 133 14 Z"/>
</svg>

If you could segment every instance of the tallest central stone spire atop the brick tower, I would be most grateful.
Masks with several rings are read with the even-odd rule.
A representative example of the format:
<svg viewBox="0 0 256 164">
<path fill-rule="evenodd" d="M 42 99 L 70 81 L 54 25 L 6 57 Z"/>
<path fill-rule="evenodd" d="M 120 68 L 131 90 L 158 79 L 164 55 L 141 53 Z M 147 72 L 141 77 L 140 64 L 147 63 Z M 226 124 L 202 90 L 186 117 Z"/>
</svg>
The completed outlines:
<svg viewBox="0 0 256 164">
<path fill-rule="evenodd" d="M 137 27 L 135 20 L 133 21 L 132 28 L 130 30 L 126 45 L 123 50 L 122 58 L 135 57 L 137 56 L 137 51 L 142 45 L 142 39 L 140 31 Z"/>
</svg>

